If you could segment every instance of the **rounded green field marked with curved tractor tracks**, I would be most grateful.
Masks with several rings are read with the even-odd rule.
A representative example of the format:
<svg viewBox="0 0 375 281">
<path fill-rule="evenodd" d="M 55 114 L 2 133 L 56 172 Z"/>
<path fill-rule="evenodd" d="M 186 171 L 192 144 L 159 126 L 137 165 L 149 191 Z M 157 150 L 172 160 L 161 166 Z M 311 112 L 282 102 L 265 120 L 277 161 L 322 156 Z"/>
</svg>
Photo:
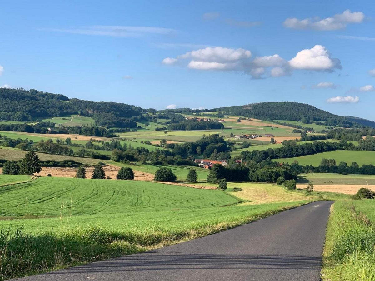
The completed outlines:
<svg viewBox="0 0 375 281">
<path fill-rule="evenodd" d="M 0 190 L 0 215 L 117 214 L 203 208 L 236 203 L 216 190 L 179 187 L 156 182 L 108 181 L 42 177 Z"/>
</svg>

